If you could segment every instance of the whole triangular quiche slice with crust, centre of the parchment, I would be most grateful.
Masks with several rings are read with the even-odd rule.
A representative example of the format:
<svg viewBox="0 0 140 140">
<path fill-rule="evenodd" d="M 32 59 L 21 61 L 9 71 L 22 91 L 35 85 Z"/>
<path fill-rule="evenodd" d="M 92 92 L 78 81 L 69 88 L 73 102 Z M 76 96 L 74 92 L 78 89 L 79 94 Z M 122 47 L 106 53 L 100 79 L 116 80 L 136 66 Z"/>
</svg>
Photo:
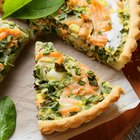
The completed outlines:
<svg viewBox="0 0 140 140">
<path fill-rule="evenodd" d="M 43 134 L 89 122 L 123 94 L 86 65 L 58 52 L 51 42 L 36 42 L 35 62 L 37 117 Z"/>
</svg>

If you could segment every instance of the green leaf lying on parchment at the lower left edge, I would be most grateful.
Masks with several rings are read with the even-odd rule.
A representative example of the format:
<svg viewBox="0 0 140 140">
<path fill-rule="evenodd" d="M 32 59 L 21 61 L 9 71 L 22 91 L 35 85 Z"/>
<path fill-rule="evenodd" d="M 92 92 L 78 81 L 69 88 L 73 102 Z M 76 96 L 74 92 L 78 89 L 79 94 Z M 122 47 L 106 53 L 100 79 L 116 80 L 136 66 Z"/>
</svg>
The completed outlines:
<svg viewBox="0 0 140 140">
<path fill-rule="evenodd" d="M 16 108 L 10 97 L 0 99 L 0 140 L 7 140 L 16 127 Z"/>
</svg>

